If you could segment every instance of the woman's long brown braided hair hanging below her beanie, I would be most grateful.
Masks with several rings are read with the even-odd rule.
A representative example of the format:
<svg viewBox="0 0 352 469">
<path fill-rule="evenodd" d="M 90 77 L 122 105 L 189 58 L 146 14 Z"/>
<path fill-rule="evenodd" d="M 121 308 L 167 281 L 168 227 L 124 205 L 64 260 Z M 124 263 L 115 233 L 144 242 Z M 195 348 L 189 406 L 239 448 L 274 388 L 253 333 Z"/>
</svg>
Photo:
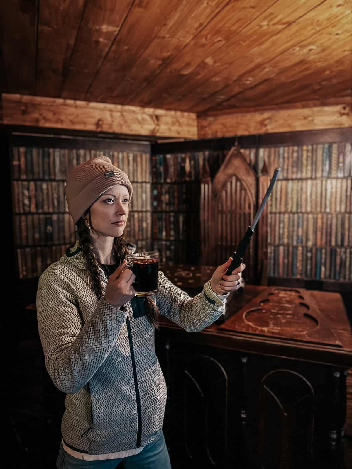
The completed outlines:
<svg viewBox="0 0 352 469">
<path fill-rule="evenodd" d="M 92 227 L 91 211 L 88 209 L 89 219 L 87 217 L 81 217 L 77 221 L 77 237 L 79 244 L 82 248 L 82 252 L 85 259 L 85 265 L 87 267 L 87 283 L 93 292 L 97 295 L 98 299 L 103 296 L 103 286 L 100 280 L 99 273 L 99 262 L 93 251 L 93 244 L 91 241 L 91 230 Z M 113 258 L 116 264 L 121 265 L 122 261 L 130 254 L 127 248 L 126 240 L 122 236 L 114 238 L 113 243 Z M 143 296 L 143 302 L 145 305 L 145 311 L 147 313 L 148 321 L 151 325 L 158 329 L 158 315 L 159 309 L 150 296 Z"/>
</svg>

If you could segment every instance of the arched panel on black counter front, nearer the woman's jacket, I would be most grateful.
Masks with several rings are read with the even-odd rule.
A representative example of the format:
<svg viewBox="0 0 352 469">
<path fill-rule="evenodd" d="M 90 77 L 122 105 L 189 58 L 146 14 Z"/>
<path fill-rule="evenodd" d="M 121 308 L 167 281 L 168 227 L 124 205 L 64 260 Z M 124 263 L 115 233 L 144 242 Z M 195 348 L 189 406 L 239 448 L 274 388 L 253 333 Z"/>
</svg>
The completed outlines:
<svg viewBox="0 0 352 469">
<path fill-rule="evenodd" d="M 184 446 L 195 467 L 223 467 L 227 394 L 228 377 L 217 360 L 206 355 L 188 360 L 184 367 Z"/>
</svg>

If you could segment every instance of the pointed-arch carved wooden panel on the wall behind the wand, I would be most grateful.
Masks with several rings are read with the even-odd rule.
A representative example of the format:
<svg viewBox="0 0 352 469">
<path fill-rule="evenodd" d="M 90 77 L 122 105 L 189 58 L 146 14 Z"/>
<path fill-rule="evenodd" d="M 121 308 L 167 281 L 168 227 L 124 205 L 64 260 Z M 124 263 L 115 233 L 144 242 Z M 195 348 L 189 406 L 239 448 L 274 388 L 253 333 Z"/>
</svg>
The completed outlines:
<svg viewBox="0 0 352 469">
<path fill-rule="evenodd" d="M 257 178 L 238 147 L 233 147 L 211 181 L 205 167 L 201 181 L 202 264 L 226 262 L 256 211 Z M 256 281 L 255 234 L 246 250 L 245 278 Z"/>
</svg>

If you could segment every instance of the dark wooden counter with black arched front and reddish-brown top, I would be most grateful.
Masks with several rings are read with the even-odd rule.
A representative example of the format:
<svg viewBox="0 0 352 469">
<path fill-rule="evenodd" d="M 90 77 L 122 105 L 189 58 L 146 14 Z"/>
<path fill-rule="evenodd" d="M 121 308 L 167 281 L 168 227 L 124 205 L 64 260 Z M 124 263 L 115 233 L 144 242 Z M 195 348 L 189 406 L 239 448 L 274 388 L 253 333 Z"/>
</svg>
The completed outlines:
<svg viewBox="0 0 352 469">
<path fill-rule="evenodd" d="M 194 296 L 215 267 L 161 270 Z M 348 467 L 352 333 L 342 298 L 295 289 L 311 308 L 307 317 L 319 319 L 316 334 L 300 338 L 292 329 L 290 336 L 287 328 L 276 334 L 281 337 L 268 329 L 253 333 L 242 321 L 244 312 L 271 290 L 245 285 L 230 295 L 225 322 L 197 333 L 160 318 L 155 343 L 168 385 L 164 433 L 173 468 Z"/>
</svg>

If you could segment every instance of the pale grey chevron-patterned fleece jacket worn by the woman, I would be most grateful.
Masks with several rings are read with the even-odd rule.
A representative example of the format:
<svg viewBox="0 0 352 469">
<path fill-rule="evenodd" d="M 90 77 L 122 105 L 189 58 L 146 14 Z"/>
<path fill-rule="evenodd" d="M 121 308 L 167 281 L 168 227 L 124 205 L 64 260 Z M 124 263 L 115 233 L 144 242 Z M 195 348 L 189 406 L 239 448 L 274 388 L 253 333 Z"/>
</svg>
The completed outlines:
<svg viewBox="0 0 352 469">
<path fill-rule="evenodd" d="M 107 278 L 100 272 L 103 288 Z M 160 313 L 186 331 L 200 331 L 223 312 L 225 301 L 206 283 L 191 298 L 159 272 Z M 86 282 L 78 242 L 41 275 L 37 314 L 46 369 L 67 393 L 61 433 L 87 454 L 145 446 L 161 430 L 166 384 L 155 355 L 154 328 L 134 297 L 121 311 L 99 300 Z"/>
</svg>

